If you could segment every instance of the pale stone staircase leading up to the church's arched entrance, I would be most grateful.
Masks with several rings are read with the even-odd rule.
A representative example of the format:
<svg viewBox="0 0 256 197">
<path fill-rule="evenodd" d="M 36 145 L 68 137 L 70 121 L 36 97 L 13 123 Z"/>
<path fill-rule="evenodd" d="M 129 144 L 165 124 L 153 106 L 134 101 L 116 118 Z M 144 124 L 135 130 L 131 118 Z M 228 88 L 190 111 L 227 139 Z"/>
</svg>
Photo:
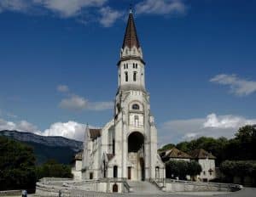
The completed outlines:
<svg viewBox="0 0 256 197">
<path fill-rule="evenodd" d="M 154 184 L 147 181 L 127 181 L 131 187 L 132 194 L 165 194 Z"/>
</svg>

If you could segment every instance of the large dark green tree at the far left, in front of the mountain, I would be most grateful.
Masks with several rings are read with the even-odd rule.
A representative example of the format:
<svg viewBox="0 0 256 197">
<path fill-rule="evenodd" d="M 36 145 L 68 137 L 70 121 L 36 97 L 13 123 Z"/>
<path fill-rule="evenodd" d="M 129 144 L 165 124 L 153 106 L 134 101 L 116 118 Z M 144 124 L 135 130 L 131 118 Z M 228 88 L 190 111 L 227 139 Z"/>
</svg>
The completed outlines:
<svg viewBox="0 0 256 197">
<path fill-rule="evenodd" d="M 36 180 L 33 149 L 0 137 L 0 190 L 34 189 Z"/>
</svg>

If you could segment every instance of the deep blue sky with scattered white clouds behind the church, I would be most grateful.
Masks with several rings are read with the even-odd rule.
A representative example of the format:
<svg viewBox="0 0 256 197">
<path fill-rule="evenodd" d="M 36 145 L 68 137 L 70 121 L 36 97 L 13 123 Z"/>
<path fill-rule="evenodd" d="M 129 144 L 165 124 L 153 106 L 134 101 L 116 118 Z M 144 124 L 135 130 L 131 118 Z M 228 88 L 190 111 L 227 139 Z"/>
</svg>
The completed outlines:
<svg viewBox="0 0 256 197">
<path fill-rule="evenodd" d="M 130 3 L 159 145 L 256 123 L 253 0 L 1 0 L 0 129 L 104 126 Z"/>
</svg>

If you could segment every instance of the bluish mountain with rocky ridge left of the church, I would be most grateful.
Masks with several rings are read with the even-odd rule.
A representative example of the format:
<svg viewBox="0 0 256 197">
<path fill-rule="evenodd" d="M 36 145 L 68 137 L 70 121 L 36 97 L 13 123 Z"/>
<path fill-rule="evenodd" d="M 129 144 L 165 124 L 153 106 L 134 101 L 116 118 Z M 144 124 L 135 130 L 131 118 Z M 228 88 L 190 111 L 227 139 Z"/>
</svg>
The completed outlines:
<svg viewBox="0 0 256 197">
<path fill-rule="evenodd" d="M 49 159 L 57 160 L 63 164 L 69 164 L 79 150 L 83 149 L 83 143 L 73 139 L 52 136 L 40 136 L 31 132 L 0 131 L 0 136 L 13 138 L 32 146 L 37 164 L 42 164 Z"/>
</svg>

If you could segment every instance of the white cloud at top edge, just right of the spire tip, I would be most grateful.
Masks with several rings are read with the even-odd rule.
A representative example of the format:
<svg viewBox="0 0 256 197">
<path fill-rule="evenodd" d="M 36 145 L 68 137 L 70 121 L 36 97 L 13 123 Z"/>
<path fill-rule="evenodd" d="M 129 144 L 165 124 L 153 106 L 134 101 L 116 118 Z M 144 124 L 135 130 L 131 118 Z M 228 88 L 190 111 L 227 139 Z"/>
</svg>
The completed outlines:
<svg viewBox="0 0 256 197">
<path fill-rule="evenodd" d="M 185 14 L 183 0 L 144 0 L 136 5 L 137 14 Z"/>
</svg>

